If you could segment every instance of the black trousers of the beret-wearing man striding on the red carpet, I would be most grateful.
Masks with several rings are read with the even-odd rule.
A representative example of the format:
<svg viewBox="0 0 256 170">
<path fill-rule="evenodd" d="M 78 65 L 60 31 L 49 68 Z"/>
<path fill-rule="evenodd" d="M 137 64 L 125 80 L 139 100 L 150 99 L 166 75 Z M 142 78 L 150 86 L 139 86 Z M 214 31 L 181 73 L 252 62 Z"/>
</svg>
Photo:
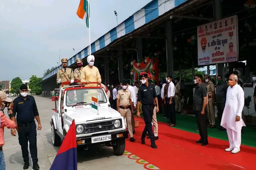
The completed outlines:
<svg viewBox="0 0 256 170">
<path fill-rule="evenodd" d="M 144 105 L 142 104 L 142 112 L 143 112 L 143 117 L 144 117 L 144 122 L 145 122 L 145 128 L 142 132 L 141 137 L 145 138 L 146 134 L 148 132 L 151 144 L 155 144 L 155 137 L 153 134 L 153 130 L 152 130 L 152 117 L 153 117 L 153 106 L 148 106 L 148 105 Z"/>
</svg>

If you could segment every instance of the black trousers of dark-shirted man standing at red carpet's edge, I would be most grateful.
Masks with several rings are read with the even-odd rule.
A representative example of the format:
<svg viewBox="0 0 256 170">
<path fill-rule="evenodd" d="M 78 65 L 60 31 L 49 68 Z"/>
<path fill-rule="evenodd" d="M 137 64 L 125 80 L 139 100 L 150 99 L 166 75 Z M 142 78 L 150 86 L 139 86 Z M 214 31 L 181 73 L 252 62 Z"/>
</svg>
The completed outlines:
<svg viewBox="0 0 256 170">
<path fill-rule="evenodd" d="M 201 111 L 196 111 L 196 122 L 197 127 L 199 129 L 200 140 L 206 142 L 208 141 L 208 134 L 207 134 L 207 119 L 206 119 L 207 112 L 204 115 L 201 115 Z"/>
</svg>

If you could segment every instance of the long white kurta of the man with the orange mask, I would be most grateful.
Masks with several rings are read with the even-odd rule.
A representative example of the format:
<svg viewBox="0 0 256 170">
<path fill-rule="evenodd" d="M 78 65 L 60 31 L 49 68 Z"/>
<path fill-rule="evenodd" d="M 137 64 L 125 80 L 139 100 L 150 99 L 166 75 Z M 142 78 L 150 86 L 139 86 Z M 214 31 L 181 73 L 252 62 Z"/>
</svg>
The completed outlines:
<svg viewBox="0 0 256 170">
<path fill-rule="evenodd" d="M 228 87 L 226 95 L 226 104 L 223 111 L 220 126 L 238 131 L 245 126 L 241 117 L 244 107 L 244 91 L 238 84 Z M 240 121 L 236 122 L 236 116 L 240 117 Z"/>
</svg>

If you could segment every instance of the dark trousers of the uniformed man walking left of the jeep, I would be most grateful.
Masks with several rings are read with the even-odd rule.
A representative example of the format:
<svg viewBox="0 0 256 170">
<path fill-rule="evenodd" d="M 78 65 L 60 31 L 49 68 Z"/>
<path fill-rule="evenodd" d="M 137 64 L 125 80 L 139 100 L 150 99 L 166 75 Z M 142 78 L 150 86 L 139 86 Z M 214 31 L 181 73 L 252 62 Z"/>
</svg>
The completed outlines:
<svg viewBox="0 0 256 170">
<path fill-rule="evenodd" d="M 36 123 L 33 122 L 29 126 L 23 127 L 19 126 L 19 143 L 21 146 L 22 157 L 24 162 L 29 162 L 28 157 L 28 141 L 29 141 L 29 150 L 31 154 L 31 158 L 34 163 L 38 162 L 37 158 L 37 145 L 36 145 Z"/>
</svg>

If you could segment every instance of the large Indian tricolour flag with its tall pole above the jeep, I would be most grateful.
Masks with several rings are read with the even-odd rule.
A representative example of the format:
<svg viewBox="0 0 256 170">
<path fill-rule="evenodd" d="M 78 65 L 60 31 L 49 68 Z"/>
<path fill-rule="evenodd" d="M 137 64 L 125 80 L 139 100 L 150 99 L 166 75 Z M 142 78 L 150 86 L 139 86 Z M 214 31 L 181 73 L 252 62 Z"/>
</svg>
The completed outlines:
<svg viewBox="0 0 256 170">
<path fill-rule="evenodd" d="M 86 27 L 89 28 L 89 54 L 92 55 L 89 0 L 80 0 L 76 14 L 78 15 L 79 18 L 81 18 L 82 20 L 85 20 Z"/>
</svg>

